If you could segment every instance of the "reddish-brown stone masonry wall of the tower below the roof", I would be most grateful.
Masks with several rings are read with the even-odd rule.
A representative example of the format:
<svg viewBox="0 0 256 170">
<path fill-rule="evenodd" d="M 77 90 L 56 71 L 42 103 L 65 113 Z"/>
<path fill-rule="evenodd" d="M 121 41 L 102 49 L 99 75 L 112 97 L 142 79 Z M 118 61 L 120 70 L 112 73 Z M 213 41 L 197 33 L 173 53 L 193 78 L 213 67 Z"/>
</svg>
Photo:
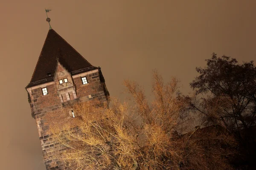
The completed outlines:
<svg viewBox="0 0 256 170">
<path fill-rule="evenodd" d="M 57 117 L 61 117 L 62 121 L 75 121 L 76 117 L 70 116 L 72 105 L 77 102 L 85 102 L 90 100 L 99 100 L 101 103 L 107 102 L 106 92 L 104 91 L 104 82 L 100 82 L 99 73 L 88 74 L 88 84 L 83 85 L 81 77 L 73 79 L 76 87 L 77 99 L 70 95 L 70 101 L 61 103 L 60 97 L 57 95 L 55 84 L 47 85 L 48 94 L 43 96 L 41 88 L 31 91 L 30 106 L 32 109 L 32 117 L 35 119 L 41 147 L 44 155 L 44 161 L 47 170 L 63 170 L 61 161 L 51 160 L 52 151 L 62 150 L 58 142 L 54 142 L 51 138 L 49 127 L 52 125 L 61 125 Z M 66 100 L 65 100 L 66 101 Z M 52 117 L 49 118 L 49 115 Z M 50 120 L 52 118 L 52 120 Z"/>
</svg>

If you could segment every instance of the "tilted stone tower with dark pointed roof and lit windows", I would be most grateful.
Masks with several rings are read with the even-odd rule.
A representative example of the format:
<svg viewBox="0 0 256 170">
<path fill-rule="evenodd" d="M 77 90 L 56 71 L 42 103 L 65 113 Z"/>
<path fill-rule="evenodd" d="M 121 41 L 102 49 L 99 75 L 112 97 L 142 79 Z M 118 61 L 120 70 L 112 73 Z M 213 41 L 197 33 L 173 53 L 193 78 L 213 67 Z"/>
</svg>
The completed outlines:
<svg viewBox="0 0 256 170">
<path fill-rule="evenodd" d="M 75 103 L 95 100 L 108 103 L 109 93 L 101 69 L 91 65 L 50 28 L 26 91 L 46 169 L 62 170 L 60 161 L 48 159 L 58 143 L 51 139 L 49 125 L 52 122 L 47 114 L 53 115 L 53 119 L 61 117 L 72 121 L 78 119 L 72 110 Z"/>
</svg>

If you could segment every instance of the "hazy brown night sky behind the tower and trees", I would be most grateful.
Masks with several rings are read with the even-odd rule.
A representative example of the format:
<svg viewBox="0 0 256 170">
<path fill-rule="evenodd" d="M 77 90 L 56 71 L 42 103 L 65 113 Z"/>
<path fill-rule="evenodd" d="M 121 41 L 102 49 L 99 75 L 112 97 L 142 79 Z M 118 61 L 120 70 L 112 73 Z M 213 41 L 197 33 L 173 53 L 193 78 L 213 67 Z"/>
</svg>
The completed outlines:
<svg viewBox="0 0 256 170">
<path fill-rule="evenodd" d="M 256 0 L 0 0 L 0 169 L 45 170 L 24 87 L 49 26 L 102 67 L 111 96 L 123 79 L 145 85 L 151 71 L 177 76 L 183 93 L 212 52 L 256 59 Z"/>
</svg>

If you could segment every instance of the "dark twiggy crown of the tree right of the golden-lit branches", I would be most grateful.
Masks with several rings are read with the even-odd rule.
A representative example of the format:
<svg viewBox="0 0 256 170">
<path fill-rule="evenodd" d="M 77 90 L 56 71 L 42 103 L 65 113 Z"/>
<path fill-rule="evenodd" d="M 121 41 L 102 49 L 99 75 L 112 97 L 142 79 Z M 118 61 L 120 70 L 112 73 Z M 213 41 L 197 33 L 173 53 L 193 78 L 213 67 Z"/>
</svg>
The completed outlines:
<svg viewBox="0 0 256 170">
<path fill-rule="evenodd" d="M 230 130 L 253 127 L 256 123 L 256 67 L 251 62 L 239 64 L 236 59 L 212 54 L 205 68 L 190 83 L 196 94 L 208 94 L 192 108 L 203 113 L 208 122 L 221 122 Z M 209 107 L 218 105 L 215 113 Z"/>
</svg>

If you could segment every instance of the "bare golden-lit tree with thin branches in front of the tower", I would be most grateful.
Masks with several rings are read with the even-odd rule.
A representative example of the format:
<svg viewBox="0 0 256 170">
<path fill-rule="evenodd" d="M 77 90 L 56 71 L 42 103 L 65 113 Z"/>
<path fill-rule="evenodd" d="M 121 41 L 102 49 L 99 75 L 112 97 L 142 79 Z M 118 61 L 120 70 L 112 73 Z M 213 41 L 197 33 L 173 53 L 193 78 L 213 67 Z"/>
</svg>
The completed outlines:
<svg viewBox="0 0 256 170">
<path fill-rule="evenodd" d="M 178 80 L 164 84 L 153 72 L 154 100 L 143 88 L 126 80 L 133 104 L 111 99 L 111 107 L 80 103 L 76 125 L 52 127 L 52 137 L 68 149 L 52 159 L 70 170 L 228 170 L 229 149 L 236 145 L 221 127 L 187 133 L 191 119 L 179 98 Z M 177 94 L 176 94 L 177 93 Z"/>
</svg>

